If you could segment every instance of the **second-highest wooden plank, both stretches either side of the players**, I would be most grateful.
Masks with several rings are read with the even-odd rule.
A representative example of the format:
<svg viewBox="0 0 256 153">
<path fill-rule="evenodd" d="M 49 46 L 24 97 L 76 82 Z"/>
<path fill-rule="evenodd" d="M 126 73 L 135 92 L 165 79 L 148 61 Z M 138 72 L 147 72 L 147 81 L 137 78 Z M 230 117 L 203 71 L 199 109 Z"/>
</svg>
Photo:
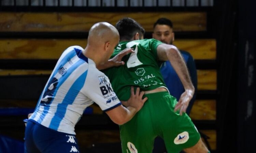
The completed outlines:
<svg viewBox="0 0 256 153">
<path fill-rule="evenodd" d="M 213 39 L 179 39 L 175 45 L 186 50 L 196 60 L 214 60 L 216 46 Z M 83 48 L 87 39 L 0 39 L 0 59 L 58 59 L 68 47 Z"/>
</svg>

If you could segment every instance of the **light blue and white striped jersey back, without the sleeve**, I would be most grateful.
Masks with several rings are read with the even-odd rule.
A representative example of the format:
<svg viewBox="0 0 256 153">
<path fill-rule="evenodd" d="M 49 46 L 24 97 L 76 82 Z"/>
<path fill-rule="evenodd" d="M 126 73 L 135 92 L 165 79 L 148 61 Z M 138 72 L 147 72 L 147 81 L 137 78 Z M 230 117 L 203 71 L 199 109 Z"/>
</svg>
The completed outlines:
<svg viewBox="0 0 256 153">
<path fill-rule="evenodd" d="M 74 134 L 74 125 L 93 103 L 81 92 L 90 62 L 82 50 L 72 46 L 62 53 L 30 119 L 50 129 Z"/>
</svg>

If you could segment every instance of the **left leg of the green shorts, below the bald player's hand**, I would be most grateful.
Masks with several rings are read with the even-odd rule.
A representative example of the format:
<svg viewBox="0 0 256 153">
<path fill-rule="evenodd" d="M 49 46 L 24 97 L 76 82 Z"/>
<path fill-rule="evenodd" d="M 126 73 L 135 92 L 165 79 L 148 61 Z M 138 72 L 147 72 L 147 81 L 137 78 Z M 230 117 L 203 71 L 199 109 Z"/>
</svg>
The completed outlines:
<svg viewBox="0 0 256 153">
<path fill-rule="evenodd" d="M 150 153 L 156 135 L 151 123 L 147 101 L 142 109 L 127 123 L 120 125 L 123 153 Z"/>
</svg>

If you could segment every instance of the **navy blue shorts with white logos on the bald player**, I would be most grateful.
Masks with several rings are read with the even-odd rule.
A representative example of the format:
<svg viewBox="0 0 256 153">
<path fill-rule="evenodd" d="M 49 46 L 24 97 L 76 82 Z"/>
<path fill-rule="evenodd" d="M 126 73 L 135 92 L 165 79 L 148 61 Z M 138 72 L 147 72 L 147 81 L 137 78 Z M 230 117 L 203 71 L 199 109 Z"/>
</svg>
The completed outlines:
<svg viewBox="0 0 256 153">
<path fill-rule="evenodd" d="M 58 132 L 43 125 L 36 125 L 34 142 L 41 153 L 80 152 L 75 135 Z"/>
</svg>

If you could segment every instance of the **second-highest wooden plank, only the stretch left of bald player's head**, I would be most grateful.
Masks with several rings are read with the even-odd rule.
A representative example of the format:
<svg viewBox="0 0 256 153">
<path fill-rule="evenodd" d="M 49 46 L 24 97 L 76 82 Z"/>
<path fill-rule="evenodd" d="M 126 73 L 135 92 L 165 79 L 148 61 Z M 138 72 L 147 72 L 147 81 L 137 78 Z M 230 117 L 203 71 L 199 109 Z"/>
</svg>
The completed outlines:
<svg viewBox="0 0 256 153">
<path fill-rule="evenodd" d="M 0 39 L 0 59 L 58 59 L 68 47 L 86 44 L 86 39 Z"/>
</svg>

